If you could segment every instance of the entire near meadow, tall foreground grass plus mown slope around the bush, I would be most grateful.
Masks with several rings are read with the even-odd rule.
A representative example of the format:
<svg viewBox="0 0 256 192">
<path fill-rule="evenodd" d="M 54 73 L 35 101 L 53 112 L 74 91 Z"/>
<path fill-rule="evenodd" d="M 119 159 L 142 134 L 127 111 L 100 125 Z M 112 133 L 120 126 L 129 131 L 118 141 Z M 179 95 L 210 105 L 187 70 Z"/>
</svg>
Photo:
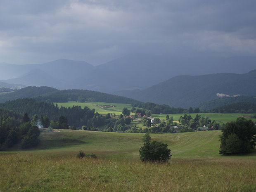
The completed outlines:
<svg viewBox="0 0 256 192">
<path fill-rule="evenodd" d="M 36 149 L 0 152 L 0 192 L 254 192 L 256 152 L 218 154 L 220 131 L 152 134 L 173 154 L 142 163 L 143 134 L 60 130 Z M 78 159 L 79 150 L 98 159 Z"/>
</svg>

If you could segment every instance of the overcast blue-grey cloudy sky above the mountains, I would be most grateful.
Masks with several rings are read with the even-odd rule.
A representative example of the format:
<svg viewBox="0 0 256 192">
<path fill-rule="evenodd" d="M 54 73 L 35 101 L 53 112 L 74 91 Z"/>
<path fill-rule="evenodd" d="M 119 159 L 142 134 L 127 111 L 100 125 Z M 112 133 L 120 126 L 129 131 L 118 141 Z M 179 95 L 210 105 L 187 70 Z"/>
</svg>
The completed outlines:
<svg viewBox="0 0 256 192">
<path fill-rule="evenodd" d="M 256 0 L 0 0 L 0 62 L 256 56 Z"/>
</svg>

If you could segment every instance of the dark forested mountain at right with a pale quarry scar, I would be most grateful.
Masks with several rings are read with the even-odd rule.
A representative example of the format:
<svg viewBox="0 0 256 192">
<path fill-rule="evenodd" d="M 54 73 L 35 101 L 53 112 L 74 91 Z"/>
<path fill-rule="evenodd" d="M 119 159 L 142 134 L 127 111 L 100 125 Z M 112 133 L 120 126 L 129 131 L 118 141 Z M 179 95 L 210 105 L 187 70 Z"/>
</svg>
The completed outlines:
<svg viewBox="0 0 256 192">
<path fill-rule="evenodd" d="M 219 98 L 217 95 L 256 95 L 256 70 L 244 74 L 176 76 L 145 90 L 120 91 L 117 94 L 173 107 L 198 107 L 204 102 Z"/>
</svg>

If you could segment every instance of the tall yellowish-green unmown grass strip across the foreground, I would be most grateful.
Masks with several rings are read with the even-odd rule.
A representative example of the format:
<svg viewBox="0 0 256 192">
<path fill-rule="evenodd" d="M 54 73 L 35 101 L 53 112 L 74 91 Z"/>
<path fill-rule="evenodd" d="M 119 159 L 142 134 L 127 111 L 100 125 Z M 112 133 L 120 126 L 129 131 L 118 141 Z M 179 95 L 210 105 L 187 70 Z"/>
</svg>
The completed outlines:
<svg viewBox="0 0 256 192">
<path fill-rule="evenodd" d="M 78 159 L 74 155 L 2 154 L 0 192 L 253 192 L 256 161 Z"/>
</svg>

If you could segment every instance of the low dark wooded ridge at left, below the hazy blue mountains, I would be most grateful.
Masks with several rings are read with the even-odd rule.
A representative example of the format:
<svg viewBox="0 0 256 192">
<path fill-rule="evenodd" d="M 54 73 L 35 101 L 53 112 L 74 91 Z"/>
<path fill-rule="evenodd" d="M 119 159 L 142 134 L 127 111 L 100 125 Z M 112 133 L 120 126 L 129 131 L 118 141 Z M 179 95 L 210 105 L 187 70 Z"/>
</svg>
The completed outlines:
<svg viewBox="0 0 256 192">
<path fill-rule="evenodd" d="M 0 102 L 15 100 L 19 98 L 35 98 L 39 101 L 47 102 L 68 102 L 68 101 L 90 101 L 90 102 L 109 102 L 109 103 L 141 103 L 139 101 L 111 95 L 107 93 L 90 90 L 57 90 L 50 87 L 26 87 L 5 95 L 0 95 Z"/>
</svg>

